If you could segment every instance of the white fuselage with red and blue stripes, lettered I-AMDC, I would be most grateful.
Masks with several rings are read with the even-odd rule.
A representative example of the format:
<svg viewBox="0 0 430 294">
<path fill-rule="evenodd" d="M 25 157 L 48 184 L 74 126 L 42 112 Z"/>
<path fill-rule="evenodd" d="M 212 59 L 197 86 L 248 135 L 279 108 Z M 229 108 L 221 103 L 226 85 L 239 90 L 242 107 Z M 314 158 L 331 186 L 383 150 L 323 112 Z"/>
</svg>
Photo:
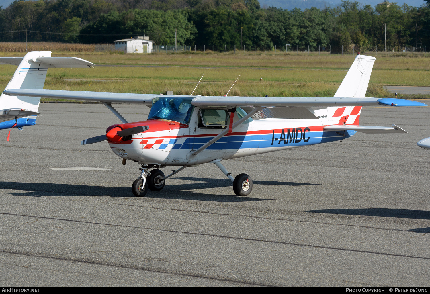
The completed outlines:
<svg viewBox="0 0 430 294">
<path fill-rule="evenodd" d="M 197 165 L 215 159 L 232 159 L 349 138 L 355 131 L 325 131 L 323 127 L 340 122 L 358 124 L 361 107 L 349 107 L 350 110 L 346 109 L 348 107 L 332 108 L 334 109 L 313 111 L 316 119 L 248 119 L 197 156 L 191 155 L 192 151 L 228 128 L 231 114 L 227 113 L 227 110 L 224 122 L 227 126 L 204 126 L 200 112 L 203 108 L 199 107 L 193 107 L 185 123 L 161 119 L 158 116 L 154 118 L 150 113 L 150 119 L 145 121 L 117 124 L 107 128 L 108 132 L 116 127 L 128 129 L 146 125 L 149 130 L 135 134 L 127 138 L 127 141 L 108 142 L 115 154 L 139 163 L 160 166 Z M 218 113 L 224 111 L 219 107 L 216 109 Z M 348 115 L 345 116 L 344 113 Z M 238 119 L 236 115 L 233 121 Z"/>
</svg>

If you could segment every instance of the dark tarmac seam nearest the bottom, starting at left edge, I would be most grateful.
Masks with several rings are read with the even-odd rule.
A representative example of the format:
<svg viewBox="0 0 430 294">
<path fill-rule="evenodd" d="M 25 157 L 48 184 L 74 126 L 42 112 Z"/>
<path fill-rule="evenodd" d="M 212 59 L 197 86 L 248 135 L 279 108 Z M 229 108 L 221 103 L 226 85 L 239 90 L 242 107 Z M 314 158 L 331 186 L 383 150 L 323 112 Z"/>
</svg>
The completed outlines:
<svg viewBox="0 0 430 294">
<path fill-rule="evenodd" d="M 267 284 L 263 284 L 263 283 L 246 282 L 246 281 L 240 281 L 240 280 L 229 279 L 229 278 L 220 278 L 217 276 L 199 275 L 199 274 L 193 274 L 193 273 L 181 273 L 181 272 L 175 272 L 175 271 L 168 270 L 168 269 L 156 269 L 156 268 L 152 268 L 152 267 L 141 267 L 141 266 L 127 266 L 127 265 L 123 265 L 123 264 L 119 264 L 119 263 L 103 263 L 103 262 L 96 262 L 96 261 L 90 261 L 90 260 L 79 260 L 79 259 L 74 259 L 74 258 L 66 258 L 66 257 L 31 254 L 31 253 L 27 253 L 27 252 L 14 252 L 14 251 L 6 251 L 6 250 L 0 250 L 0 252 L 1 253 L 8 253 L 8 254 L 24 255 L 24 256 L 29 256 L 29 257 L 40 257 L 40 258 L 50 258 L 50 259 L 64 260 L 64 261 L 74 261 L 74 262 L 79 262 L 79 263 L 95 264 L 95 265 L 100 265 L 100 266 L 112 266 L 112 267 L 123 268 L 123 269 L 136 269 L 136 270 L 142 270 L 145 272 L 166 273 L 166 274 L 171 274 L 171 275 L 187 276 L 187 277 L 201 278 L 201 279 L 208 279 L 208 280 L 216 280 L 216 281 L 221 281 L 221 282 L 231 282 L 231 283 L 253 285 L 253 286 L 272 286 L 272 285 L 267 285 Z"/>
</svg>

